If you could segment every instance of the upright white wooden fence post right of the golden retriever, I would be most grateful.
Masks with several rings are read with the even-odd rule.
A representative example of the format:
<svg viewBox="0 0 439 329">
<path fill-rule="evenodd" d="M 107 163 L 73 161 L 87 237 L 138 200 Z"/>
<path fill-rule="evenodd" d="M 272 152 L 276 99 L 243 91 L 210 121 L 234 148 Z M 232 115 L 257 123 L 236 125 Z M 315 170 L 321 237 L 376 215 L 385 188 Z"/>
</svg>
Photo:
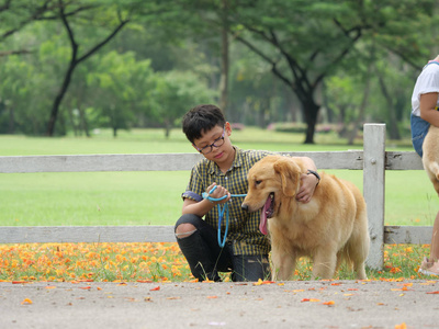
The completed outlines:
<svg viewBox="0 0 439 329">
<path fill-rule="evenodd" d="M 384 263 L 385 124 L 364 124 L 363 133 L 363 194 L 371 238 L 367 264 L 378 270 Z"/>
</svg>

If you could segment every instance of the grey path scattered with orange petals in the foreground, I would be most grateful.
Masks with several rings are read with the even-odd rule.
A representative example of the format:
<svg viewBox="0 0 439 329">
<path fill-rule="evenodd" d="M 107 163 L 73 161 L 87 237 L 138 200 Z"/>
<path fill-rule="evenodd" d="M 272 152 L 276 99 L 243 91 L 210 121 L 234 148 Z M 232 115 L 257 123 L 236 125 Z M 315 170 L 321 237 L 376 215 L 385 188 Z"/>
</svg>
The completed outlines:
<svg viewBox="0 0 439 329">
<path fill-rule="evenodd" d="M 0 283 L 0 328 L 439 328 L 439 282 Z M 402 327 L 404 328 L 404 327 Z"/>
</svg>

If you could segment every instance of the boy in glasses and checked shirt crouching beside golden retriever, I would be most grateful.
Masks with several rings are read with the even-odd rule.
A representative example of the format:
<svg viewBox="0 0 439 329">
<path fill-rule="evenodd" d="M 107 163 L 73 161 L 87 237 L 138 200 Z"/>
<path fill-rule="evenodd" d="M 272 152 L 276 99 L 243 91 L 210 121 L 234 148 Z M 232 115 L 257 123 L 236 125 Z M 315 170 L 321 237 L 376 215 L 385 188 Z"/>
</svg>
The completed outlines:
<svg viewBox="0 0 439 329">
<path fill-rule="evenodd" d="M 182 194 L 182 216 L 176 224 L 179 247 L 199 281 L 221 281 L 218 272 L 230 272 L 233 281 L 258 281 L 270 276 L 268 254 L 270 242 L 259 231 L 260 214 L 241 209 L 243 197 L 232 194 L 247 193 L 247 173 L 257 161 L 272 154 L 241 150 L 232 145 L 232 127 L 215 105 L 198 105 L 183 116 L 183 133 L 192 146 L 204 156 L 192 168 L 187 191 Z M 318 184 L 316 167 L 306 161 L 313 174 L 304 174 L 297 200 L 309 202 Z M 215 188 L 216 186 L 216 188 Z M 206 192 L 213 198 L 203 198 Z M 224 248 L 218 243 L 217 204 L 228 205 L 228 235 Z M 225 212 L 226 213 L 226 212 Z M 205 217 L 204 220 L 202 217 Z M 222 220 L 224 239 L 226 214 Z"/>
</svg>

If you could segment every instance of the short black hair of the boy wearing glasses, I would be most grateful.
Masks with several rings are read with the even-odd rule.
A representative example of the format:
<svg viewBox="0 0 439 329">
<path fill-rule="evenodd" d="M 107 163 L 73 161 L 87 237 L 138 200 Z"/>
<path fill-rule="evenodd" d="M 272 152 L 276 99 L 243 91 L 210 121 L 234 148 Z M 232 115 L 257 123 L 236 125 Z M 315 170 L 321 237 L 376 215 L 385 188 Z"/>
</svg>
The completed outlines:
<svg viewBox="0 0 439 329">
<path fill-rule="evenodd" d="M 183 133 L 190 143 L 202 137 L 202 134 L 226 123 L 219 107 L 212 104 L 202 104 L 193 107 L 183 116 Z"/>
</svg>

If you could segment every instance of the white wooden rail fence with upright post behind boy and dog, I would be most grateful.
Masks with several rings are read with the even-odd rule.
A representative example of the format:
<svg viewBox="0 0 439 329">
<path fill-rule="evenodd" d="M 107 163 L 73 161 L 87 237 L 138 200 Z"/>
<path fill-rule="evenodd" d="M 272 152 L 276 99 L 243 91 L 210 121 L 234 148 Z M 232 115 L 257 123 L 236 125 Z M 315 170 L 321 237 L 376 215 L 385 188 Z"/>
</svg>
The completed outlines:
<svg viewBox="0 0 439 329">
<path fill-rule="evenodd" d="M 385 151 L 384 124 L 365 124 L 363 133 L 363 150 L 282 154 L 307 156 L 318 169 L 363 170 L 371 237 L 368 265 L 381 269 L 384 243 L 430 243 L 432 228 L 384 226 L 385 170 L 423 170 L 423 163 L 414 151 Z M 0 157 L 0 173 L 190 170 L 200 158 L 198 154 Z M 97 241 L 173 242 L 176 238 L 173 226 L 0 226 L 0 243 Z"/>
</svg>

